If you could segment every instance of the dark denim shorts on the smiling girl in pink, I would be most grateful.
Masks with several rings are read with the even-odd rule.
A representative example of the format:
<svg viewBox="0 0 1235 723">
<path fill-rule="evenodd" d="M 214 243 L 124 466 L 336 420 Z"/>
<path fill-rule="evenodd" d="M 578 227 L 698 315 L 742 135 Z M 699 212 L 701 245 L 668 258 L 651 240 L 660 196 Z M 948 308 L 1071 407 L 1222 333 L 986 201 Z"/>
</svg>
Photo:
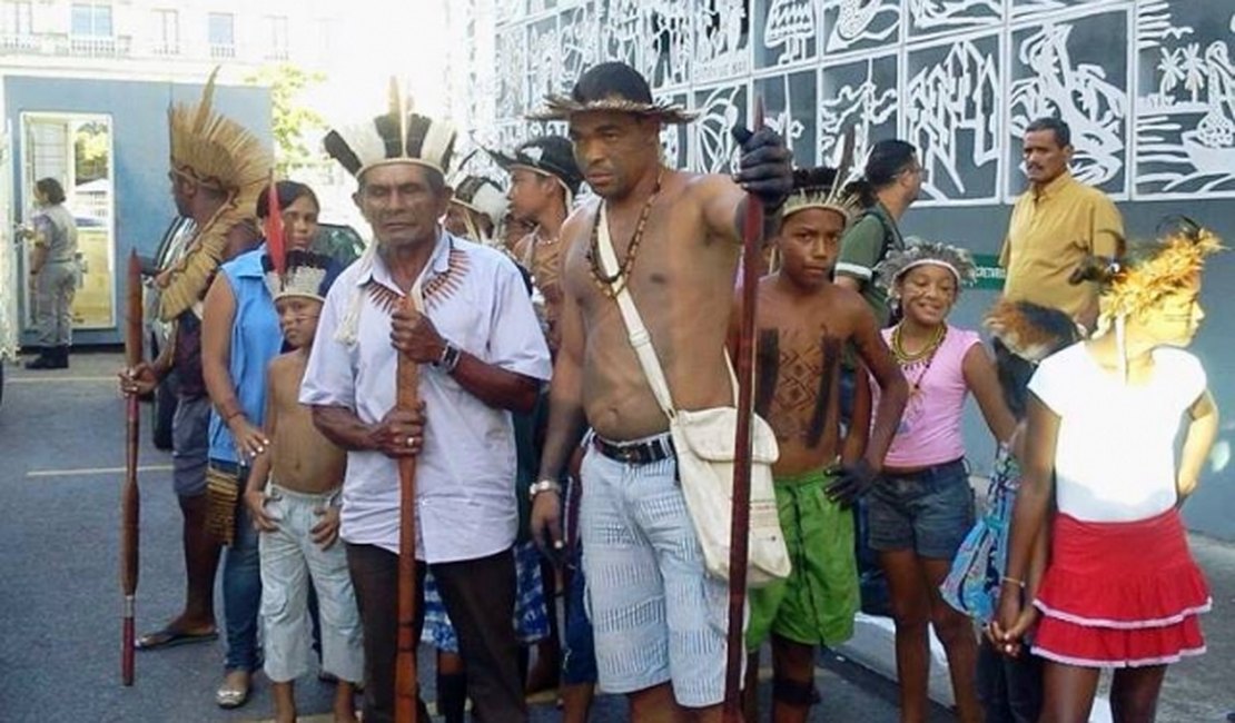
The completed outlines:
<svg viewBox="0 0 1235 723">
<path fill-rule="evenodd" d="M 974 519 L 965 460 L 905 475 L 884 473 L 871 491 L 867 517 L 871 548 L 951 560 Z"/>
</svg>

